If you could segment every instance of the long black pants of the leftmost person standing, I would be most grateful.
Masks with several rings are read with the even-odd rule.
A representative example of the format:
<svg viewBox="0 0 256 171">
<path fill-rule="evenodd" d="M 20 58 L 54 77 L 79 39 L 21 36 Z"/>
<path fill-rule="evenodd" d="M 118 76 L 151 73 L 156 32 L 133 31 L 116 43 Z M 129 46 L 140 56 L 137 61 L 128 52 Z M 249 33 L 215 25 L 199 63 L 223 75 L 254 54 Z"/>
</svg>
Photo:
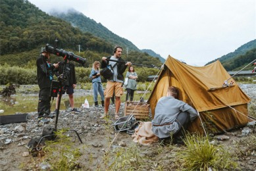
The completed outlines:
<svg viewBox="0 0 256 171">
<path fill-rule="evenodd" d="M 38 116 L 43 116 L 43 114 L 49 115 L 51 113 L 51 97 L 50 97 L 50 87 L 40 89 L 39 91 L 39 101 L 38 101 Z"/>
</svg>

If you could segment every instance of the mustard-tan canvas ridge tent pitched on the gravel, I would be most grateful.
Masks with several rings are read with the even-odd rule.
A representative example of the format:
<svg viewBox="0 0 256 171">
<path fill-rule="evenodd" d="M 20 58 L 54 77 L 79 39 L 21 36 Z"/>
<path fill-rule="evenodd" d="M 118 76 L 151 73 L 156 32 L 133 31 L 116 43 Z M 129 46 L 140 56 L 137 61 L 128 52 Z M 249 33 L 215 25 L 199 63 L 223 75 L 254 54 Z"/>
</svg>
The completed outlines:
<svg viewBox="0 0 256 171">
<path fill-rule="evenodd" d="M 167 88 L 178 87 L 178 99 L 188 103 L 200 114 L 188 130 L 190 132 L 219 133 L 248 122 L 247 103 L 250 99 L 231 78 L 222 64 L 217 61 L 207 66 L 197 67 L 184 64 L 172 57 L 166 59 L 164 68 L 149 97 L 154 117 L 157 101 L 166 95 Z M 224 81 L 232 86 L 222 86 Z"/>
</svg>

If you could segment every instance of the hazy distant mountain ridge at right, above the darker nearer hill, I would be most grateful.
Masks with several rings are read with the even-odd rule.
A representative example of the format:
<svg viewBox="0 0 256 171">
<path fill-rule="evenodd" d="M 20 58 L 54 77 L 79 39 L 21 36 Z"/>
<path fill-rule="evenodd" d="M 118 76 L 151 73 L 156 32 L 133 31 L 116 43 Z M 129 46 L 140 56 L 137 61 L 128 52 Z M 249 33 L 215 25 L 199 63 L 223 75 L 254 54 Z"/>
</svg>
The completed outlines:
<svg viewBox="0 0 256 171">
<path fill-rule="evenodd" d="M 212 62 L 215 62 L 219 60 L 221 63 L 228 62 L 229 60 L 233 60 L 235 57 L 238 57 L 239 55 L 245 55 L 247 51 L 250 51 L 251 49 L 256 48 L 256 39 L 249 41 L 248 43 L 245 43 L 244 45 L 238 47 L 234 52 L 228 53 L 227 55 L 223 55 L 222 57 L 215 59 L 211 62 L 208 62 L 207 64 L 211 64 Z M 207 65 L 205 64 L 205 65 Z"/>
</svg>

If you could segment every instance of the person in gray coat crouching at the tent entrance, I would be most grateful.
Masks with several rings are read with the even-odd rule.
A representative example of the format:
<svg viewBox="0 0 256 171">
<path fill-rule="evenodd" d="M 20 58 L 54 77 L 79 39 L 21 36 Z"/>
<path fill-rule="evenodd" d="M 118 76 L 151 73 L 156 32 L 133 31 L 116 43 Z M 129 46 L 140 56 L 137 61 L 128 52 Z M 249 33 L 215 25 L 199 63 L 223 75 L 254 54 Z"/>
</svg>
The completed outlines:
<svg viewBox="0 0 256 171">
<path fill-rule="evenodd" d="M 173 86 L 168 87 L 166 97 L 161 97 L 155 107 L 152 132 L 163 143 L 182 143 L 181 137 L 188 124 L 197 118 L 197 111 L 187 103 L 176 99 L 177 97 L 178 89 Z"/>
</svg>

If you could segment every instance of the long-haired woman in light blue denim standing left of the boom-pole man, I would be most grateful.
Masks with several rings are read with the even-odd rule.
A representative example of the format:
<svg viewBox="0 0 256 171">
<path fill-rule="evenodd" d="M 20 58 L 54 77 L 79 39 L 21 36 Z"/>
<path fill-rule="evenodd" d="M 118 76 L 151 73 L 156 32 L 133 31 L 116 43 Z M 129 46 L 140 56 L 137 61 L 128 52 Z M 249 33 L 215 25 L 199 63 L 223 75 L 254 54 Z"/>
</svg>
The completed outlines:
<svg viewBox="0 0 256 171">
<path fill-rule="evenodd" d="M 104 91 L 103 86 L 101 84 L 101 73 L 99 73 L 99 66 L 101 66 L 99 61 L 95 61 L 93 63 L 93 66 L 91 68 L 91 74 L 90 78 L 92 79 L 92 85 L 93 85 L 93 99 L 94 99 L 94 105 L 95 107 L 98 107 L 98 92 L 99 95 L 101 95 L 101 105 L 104 107 Z"/>
</svg>

